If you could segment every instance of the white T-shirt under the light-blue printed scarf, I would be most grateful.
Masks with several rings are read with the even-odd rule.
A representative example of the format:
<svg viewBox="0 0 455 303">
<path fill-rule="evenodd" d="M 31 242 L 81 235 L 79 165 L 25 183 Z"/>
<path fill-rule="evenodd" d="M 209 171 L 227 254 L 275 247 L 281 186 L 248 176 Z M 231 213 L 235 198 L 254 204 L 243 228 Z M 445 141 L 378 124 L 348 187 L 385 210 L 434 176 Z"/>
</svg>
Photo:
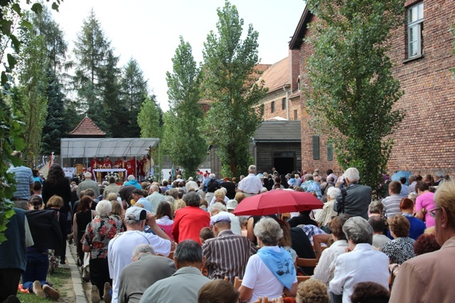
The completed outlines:
<svg viewBox="0 0 455 303">
<path fill-rule="evenodd" d="M 278 246 L 272 246 L 272 248 L 279 250 Z M 293 283 L 296 282 L 297 277 L 295 277 Z M 265 296 L 271 299 L 280 297 L 284 289 L 272 271 L 259 258 L 259 255 L 252 255 L 248 260 L 242 285 L 253 290 L 252 297 L 248 302 L 256 301 L 259 297 Z"/>
</svg>

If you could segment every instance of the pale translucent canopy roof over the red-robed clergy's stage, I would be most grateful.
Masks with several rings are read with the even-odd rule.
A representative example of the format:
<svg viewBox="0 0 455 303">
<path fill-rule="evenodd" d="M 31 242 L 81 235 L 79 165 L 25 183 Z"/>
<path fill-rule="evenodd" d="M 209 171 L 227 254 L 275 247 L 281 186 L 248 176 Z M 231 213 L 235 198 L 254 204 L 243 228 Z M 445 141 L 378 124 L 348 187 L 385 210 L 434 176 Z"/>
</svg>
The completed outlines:
<svg viewBox="0 0 455 303">
<path fill-rule="evenodd" d="M 149 148 L 159 145 L 159 138 L 62 138 L 60 157 L 93 158 L 135 157 L 146 155 Z"/>
</svg>

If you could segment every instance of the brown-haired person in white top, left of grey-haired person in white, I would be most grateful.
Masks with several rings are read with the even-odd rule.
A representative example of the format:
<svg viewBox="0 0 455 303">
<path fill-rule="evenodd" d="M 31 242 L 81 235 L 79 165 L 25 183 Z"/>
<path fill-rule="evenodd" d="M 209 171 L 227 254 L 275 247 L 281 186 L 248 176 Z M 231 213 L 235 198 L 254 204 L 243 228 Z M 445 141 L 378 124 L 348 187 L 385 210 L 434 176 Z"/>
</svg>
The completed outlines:
<svg viewBox="0 0 455 303">
<path fill-rule="evenodd" d="M 331 187 L 332 188 L 332 187 Z M 346 235 L 343 233 L 343 225 L 348 221 L 349 216 L 342 214 L 336 216 L 328 223 L 328 227 L 332 231 L 333 244 L 323 250 L 321 258 L 319 259 L 318 266 L 314 270 L 313 278 L 328 283 L 333 279 L 335 274 L 335 260 L 338 255 L 345 252 L 348 247 Z"/>
</svg>

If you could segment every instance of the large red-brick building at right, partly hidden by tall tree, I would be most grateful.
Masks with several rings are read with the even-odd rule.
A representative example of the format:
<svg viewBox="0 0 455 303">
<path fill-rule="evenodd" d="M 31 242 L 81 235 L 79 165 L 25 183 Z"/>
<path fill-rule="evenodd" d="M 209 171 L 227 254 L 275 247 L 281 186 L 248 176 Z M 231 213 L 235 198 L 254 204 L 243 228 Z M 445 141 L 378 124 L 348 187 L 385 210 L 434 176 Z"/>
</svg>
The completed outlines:
<svg viewBox="0 0 455 303">
<path fill-rule="evenodd" d="M 408 0 L 406 23 L 393 33 L 390 57 L 396 62 L 393 76 L 401 82 L 405 94 L 395 104 L 406 109 L 405 119 L 397 126 L 395 145 L 388 171 L 410 170 L 454 175 L 455 158 L 455 67 L 454 35 L 449 28 L 455 23 L 455 0 Z M 309 85 L 306 60 L 313 54 L 304 38 L 313 35 L 309 23 L 318 22 L 307 8 L 296 27 L 289 50 L 299 51 L 302 87 Z M 301 100 L 302 169 L 341 170 L 326 137 L 309 126 L 306 99 Z"/>
</svg>

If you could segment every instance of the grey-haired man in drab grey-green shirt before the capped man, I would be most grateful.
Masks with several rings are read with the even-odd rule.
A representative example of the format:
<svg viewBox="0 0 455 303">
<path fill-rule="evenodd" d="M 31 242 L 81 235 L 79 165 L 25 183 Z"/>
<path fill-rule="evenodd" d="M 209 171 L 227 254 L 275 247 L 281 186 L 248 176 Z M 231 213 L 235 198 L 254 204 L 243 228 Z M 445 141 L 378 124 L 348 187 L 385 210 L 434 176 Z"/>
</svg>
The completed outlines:
<svg viewBox="0 0 455 303">
<path fill-rule="evenodd" d="M 132 260 L 120 272 L 119 303 L 139 303 L 147 288 L 176 272 L 173 260 L 156 255 L 150 244 L 136 246 Z"/>
</svg>

